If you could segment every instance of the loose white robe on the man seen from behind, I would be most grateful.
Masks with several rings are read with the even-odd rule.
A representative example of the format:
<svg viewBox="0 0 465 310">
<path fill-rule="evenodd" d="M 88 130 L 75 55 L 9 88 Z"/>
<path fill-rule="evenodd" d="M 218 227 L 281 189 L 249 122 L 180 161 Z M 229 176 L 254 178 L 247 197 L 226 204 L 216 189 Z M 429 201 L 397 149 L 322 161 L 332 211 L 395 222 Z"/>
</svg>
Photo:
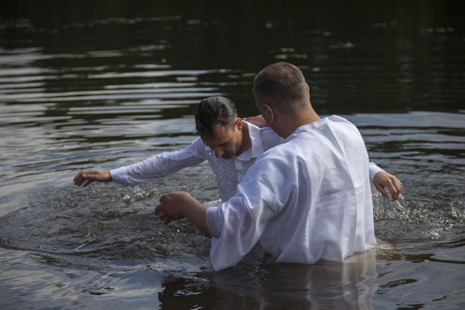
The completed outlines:
<svg viewBox="0 0 465 310">
<path fill-rule="evenodd" d="M 369 159 L 358 129 L 329 116 L 259 156 L 237 193 L 207 211 L 215 270 L 260 241 L 275 262 L 343 261 L 374 247 Z"/>
</svg>

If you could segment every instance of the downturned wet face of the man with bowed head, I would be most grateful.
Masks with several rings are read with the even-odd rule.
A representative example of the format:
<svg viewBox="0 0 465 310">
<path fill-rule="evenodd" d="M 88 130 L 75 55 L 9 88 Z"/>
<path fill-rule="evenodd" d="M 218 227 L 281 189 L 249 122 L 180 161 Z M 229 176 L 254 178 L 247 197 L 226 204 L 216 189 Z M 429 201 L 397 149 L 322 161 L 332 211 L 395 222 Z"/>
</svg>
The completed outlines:
<svg viewBox="0 0 465 310">
<path fill-rule="evenodd" d="M 215 152 L 216 157 L 230 159 L 234 155 L 238 155 L 237 152 L 242 142 L 240 129 L 237 126 L 237 120 L 233 128 L 217 125 L 213 132 L 213 140 L 204 140 L 204 143 Z"/>
</svg>

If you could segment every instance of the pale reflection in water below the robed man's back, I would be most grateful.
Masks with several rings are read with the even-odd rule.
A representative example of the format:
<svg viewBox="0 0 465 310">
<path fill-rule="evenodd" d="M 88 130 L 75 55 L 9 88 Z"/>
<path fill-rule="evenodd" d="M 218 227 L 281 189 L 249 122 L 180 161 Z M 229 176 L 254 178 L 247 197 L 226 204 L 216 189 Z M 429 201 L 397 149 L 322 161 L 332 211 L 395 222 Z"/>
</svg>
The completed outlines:
<svg viewBox="0 0 465 310">
<path fill-rule="evenodd" d="M 258 275 L 228 269 L 215 273 L 212 283 L 226 308 L 372 309 L 376 276 L 372 250 L 344 263 L 268 265 Z"/>
</svg>

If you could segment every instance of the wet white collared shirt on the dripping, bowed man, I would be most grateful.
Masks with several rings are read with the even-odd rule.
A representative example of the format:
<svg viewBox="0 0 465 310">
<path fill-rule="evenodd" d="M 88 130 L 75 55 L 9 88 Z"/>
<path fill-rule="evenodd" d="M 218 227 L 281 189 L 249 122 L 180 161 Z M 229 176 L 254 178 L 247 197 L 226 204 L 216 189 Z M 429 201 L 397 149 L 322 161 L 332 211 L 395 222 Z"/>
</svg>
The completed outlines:
<svg viewBox="0 0 465 310">
<path fill-rule="evenodd" d="M 111 178 L 120 185 L 131 186 L 153 181 L 186 167 L 208 160 L 215 174 L 222 201 L 236 192 L 237 184 L 254 164 L 258 155 L 279 145 L 283 138 L 270 127 L 259 128 L 244 121 L 248 126 L 252 147 L 230 159 L 217 158 L 215 152 L 198 137 L 187 148 L 176 152 L 164 152 L 133 165 L 110 170 Z"/>
</svg>

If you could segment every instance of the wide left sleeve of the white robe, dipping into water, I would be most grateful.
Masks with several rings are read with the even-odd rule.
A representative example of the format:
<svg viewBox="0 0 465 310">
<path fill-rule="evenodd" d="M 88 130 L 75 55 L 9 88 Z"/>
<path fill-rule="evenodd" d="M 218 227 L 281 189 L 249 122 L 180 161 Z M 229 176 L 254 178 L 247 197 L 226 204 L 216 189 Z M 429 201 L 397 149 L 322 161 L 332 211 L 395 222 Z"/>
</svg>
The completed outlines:
<svg viewBox="0 0 465 310">
<path fill-rule="evenodd" d="M 257 160 L 237 186 L 237 193 L 207 210 L 210 260 L 216 271 L 234 266 L 250 252 L 269 221 L 282 210 L 292 187 L 284 181 L 289 180 L 285 170 L 273 161 Z"/>
</svg>

